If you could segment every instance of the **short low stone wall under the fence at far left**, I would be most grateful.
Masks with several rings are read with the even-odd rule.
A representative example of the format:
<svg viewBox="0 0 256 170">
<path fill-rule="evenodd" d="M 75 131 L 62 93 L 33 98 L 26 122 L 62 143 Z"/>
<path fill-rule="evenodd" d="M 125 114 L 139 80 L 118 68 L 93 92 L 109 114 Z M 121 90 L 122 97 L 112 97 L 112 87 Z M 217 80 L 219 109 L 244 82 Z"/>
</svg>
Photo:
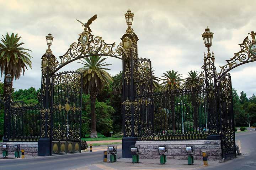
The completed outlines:
<svg viewBox="0 0 256 170">
<path fill-rule="evenodd" d="M 20 145 L 21 149 L 25 149 L 25 156 L 37 156 L 38 142 L 0 142 L 0 147 L 2 148 L 5 144 L 9 145 L 9 155 L 14 155 L 14 145 Z M 0 149 L 0 154 L 2 154 L 2 149 Z"/>
</svg>

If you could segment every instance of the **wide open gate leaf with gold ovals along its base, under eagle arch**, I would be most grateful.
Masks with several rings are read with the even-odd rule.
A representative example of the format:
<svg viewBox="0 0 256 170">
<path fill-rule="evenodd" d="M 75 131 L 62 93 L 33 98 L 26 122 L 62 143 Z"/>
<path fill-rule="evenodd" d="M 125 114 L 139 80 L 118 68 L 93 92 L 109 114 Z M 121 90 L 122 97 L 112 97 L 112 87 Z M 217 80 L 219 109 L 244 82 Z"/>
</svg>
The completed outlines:
<svg viewBox="0 0 256 170">
<path fill-rule="evenodd" d="M 69 71 L 52 78 L 51 154 L 80 152 L 82 75 Z"/>
</svg>

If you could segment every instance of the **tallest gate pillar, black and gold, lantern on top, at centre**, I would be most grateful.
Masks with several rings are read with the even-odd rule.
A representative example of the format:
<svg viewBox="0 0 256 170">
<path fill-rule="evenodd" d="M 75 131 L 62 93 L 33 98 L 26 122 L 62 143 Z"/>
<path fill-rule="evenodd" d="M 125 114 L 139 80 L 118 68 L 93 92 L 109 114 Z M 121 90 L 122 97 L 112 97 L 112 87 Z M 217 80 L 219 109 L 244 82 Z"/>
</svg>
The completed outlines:
<svg viewBox="0 0 256 170">
<path fill-rule="evenodd" d="M 138 37 L 133 32 L 131 27 L 133 20 L 133 13 L 128 10 L 125 14 L 126 23 L 128 28 L 126 34 L 121 38 L 122 40 L 122 50 L 123 50 L 123 97 L 122 97 L 122 116 L 123 116 L 123 133 L 124 137 L 122 140 L 123 148 L 123 158 L 132 158 L 132 153 L 130 152 L 130 146 L 134 145 L 137 141 L 137 128 L 136 126 L 138 120 L 134 116 L 136 114 L 134 106 L 137 102 L 135 101 L 135 72 L 136 63 L 138 59 Z"/>
</svg>

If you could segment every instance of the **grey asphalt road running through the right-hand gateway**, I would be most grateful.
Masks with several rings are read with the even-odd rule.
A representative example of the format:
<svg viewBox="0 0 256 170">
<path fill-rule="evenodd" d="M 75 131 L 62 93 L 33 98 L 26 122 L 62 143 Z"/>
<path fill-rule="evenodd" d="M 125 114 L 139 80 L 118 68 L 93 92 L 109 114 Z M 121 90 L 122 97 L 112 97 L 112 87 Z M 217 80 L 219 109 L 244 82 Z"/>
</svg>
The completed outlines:
<svg viewBox="0 0 256 170">
<path fill-rule="evenodd" d="M 252 131 L 240 132 L 235 137 L 236 140 L 241 141 L 242 155 L 218 166 L 208 167 L 207 170 L 256 170 L 256 131 L 253 129 Z"/>
</svg>

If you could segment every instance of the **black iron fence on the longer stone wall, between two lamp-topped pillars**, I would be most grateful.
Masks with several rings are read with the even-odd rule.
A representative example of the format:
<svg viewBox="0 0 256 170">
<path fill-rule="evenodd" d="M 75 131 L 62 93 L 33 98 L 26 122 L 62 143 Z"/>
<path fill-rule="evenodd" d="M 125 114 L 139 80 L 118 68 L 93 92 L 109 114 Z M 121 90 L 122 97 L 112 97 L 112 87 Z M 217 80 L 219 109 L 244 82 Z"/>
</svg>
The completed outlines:
<svg viewBox="0 0 256 170">
<path fill-rule="evenodd" d="M 209 134 L 206 90 L 162 90 L 138 96 L 139 140 L 204 140 Z"/>
</svg>

